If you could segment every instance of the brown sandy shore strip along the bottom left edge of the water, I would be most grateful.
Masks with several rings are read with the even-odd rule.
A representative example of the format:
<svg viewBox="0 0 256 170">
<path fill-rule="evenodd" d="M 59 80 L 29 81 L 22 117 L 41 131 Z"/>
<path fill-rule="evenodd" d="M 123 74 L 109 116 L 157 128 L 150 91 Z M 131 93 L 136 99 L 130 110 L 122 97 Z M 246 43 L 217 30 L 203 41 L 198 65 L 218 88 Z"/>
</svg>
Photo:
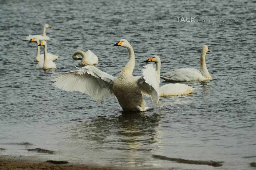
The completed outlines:
<svg viewBox="0 0 256 170">
<path fill-rule="evenodd" d="M 55 162 L 58 163 L 58 162 Z M 0 156 L 0 170 L 122 170 L 114 167 L 97 167 L 83 164 L 54 164 L 29 158 Z"/>
</svg>

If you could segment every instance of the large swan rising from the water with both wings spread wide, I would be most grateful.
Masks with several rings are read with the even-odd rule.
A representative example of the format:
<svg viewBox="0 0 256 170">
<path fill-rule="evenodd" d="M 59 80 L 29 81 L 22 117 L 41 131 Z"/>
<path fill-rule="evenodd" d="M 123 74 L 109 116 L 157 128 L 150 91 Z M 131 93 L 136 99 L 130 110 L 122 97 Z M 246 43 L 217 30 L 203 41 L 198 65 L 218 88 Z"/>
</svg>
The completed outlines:
<svg viewBox="0 0 256 170">
<path fill-rule="evenodd" d="M 124 111 L 145 111 L 142 93 L 151 97 L 153 104 L 159 100 L 159 77 L 153 65 L 142 70 L 142 76 L 133 76 L 135 57 L 132 46 L 125 39 L 114 46 L 126 47 L 129 61 L 118 77 L 113 77 L 94 66 L 84 66 L 78 70 L 55 73 L 53 85 L 65 91 L 80 91 L 100 102 L 109 96 L 115 96 Z"/>
</svg>

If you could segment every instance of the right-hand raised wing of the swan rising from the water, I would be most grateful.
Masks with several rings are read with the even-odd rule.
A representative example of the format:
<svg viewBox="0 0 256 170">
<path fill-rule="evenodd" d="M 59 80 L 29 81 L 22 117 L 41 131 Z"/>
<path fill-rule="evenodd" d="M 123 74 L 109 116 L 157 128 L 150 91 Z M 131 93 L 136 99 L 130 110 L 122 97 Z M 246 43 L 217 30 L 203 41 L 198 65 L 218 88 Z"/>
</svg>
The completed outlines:
<svg viewBox="0 0 256 170">
<path fill-rule="evenodd" d="M 137 84 L 141 92 L 150 97 L 153 104 L 157 104 L 159 101 L 159 84 L 160 80 L 158 73 L 152 64 L 143 66 L 142 76 L 135 77 L 137 79 Z"/>
</svg>

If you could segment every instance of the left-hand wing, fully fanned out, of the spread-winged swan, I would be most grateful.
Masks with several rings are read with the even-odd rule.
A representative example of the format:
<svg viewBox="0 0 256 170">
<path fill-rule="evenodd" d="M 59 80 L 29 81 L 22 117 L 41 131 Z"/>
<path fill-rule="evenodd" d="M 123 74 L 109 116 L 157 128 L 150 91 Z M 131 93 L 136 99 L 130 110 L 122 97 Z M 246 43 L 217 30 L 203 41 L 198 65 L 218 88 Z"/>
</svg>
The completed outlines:
<svg viewBox="0 0 256 170">
<path fill-rule="evenodd" d="M 112 87 L 115 77 L 94 66 L 84 66 L 78 70 L 52 75 L 53 85 L 65 91 L 80 91 L 90 95 L 98 103 L 114 96 Z"/>
</svg>

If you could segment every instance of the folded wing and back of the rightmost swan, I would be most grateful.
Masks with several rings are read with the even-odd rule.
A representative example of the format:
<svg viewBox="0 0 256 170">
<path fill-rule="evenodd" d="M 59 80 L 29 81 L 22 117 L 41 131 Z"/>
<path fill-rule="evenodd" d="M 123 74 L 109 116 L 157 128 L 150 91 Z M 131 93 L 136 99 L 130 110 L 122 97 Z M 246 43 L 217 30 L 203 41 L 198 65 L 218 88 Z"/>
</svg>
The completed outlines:
<svg viewBox="0 0 256 170">
<path fill-rule="evenodd" d="M 197 69 L 182 68 L 165 73 L 160 76 L 160 78 L 167 81 L 193 81 L 200 80 L 204 77 L 202 73 Z"/>
</svg>

